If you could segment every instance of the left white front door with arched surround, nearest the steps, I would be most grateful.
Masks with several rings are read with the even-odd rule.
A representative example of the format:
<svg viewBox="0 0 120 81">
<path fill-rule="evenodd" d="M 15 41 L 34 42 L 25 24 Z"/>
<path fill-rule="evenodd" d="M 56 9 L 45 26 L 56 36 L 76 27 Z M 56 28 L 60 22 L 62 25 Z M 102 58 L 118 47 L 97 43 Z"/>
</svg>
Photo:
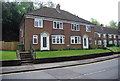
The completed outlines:
<svg viewBox="0 0 120 81">
<path fill-rule="evenodd" d="M 50 50 L 49 34 L 46 32 L 41 33 L 41 50 Z"/>
</svg>

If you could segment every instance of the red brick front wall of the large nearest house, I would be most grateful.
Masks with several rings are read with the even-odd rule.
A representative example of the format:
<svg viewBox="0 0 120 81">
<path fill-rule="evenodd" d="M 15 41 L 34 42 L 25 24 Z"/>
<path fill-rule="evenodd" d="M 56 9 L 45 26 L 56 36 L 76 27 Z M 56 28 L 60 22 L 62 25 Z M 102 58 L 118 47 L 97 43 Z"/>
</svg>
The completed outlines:
<svg viewBox="0 0 120 81">
<path fill-rule="evenodd" d="M 64 29 L 53 29 L 53 22 L 52 21 L 43 21 L 43 28 L 37 28 L 34 27 L 34 20 L 33 19 L 25 19 L 25 50 L 30 49 L 30 42 L 33 40 L 33 35 L 38 35 L 38 44 L 34 45 L 35 49 L 40 49 L 40 33 L 43 31 L 48 32 L 50 35 L 51 34 L 57 34 L 57 35 L 65 35 L 65 44 L 51 44 L 51 36 L 50 36 L 50 49 L 51 50 L 59 50 L 59 49 L 68 49 L 68 48 L 73 48 L 73 49 L 78 49 L 82 48 L 82 37 L 83 35 L 87 34 L 89 37 L 92 38 L 92 44 L 91 46 L 94 48 L 95 43 L 94 43 L 94 27 L 91 28 L 91 32 L 86 32 L 86 27 L 84 25 L 80 25 L 80 31 L 72 31 L 71 30 L 71 24 L 70 23 L 63 23 L 63 28 Z M 81 36 L 81 44 L 70 44 L 70 36 L 76 35 L 76 36 Z M 70 45 L 70 46 L 67 46 Z"/>
</svg>

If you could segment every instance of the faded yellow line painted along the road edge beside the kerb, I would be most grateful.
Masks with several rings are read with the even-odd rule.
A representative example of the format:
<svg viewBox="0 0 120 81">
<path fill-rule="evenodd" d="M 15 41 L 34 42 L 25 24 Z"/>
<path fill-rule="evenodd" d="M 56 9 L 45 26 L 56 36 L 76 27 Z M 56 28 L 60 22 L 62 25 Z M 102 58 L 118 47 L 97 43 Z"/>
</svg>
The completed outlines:
<svg viewBox="0 0 120 81">
<path fill-rule="evenodd" d="M 118 58 L 109 59 L 109 60 L 100 61 L 100 62 L 95 62 L 95 63 L 90 63 L 90 64 L 84 64 L 84 65 L 67 66 L 67 67 L 62 67 L 62 68 L 72 68 L 72 67 L 78 67 L 78 66 L 86 66 L 86 65 L 91 65 L 91 64 L 97 64 L 97 63 L 103 63 L 103 62 L 107 62 L 107 61 L 112 61 L 112 60 L 116 60 L 116 59 L 118 59 Z M 45 71 L 45 70 L 46 69 L 44 69 L 44 70 L 36 70 L 36 71 L 27 71 L 27 72 L 19 72 L 19 73 L 0 74 L 0 76 L 23 74 L 23 73 L 31 73 L 31 72 L 42 72 L 42 71 Z"/>
</svg>

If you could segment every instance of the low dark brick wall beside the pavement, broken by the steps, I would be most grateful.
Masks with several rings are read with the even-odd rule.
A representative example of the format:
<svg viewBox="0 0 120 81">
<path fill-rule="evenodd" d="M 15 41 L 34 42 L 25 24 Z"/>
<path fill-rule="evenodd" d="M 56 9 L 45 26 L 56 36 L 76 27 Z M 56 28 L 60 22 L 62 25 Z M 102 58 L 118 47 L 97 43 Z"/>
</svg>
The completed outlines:
<svg viewBox="0 0 120 81">
<path fill-rule="evenodd" d="M 90 59 L 102 56 L 109 56 L 113 54 L 120 54 L 120 52 L 108 52 L 108 53 L 99 53 L 99 54 L 88 54 L 88 55 L 79 55 L 79 56 L 66 56 L 66 57 L 54 57 L 54 58 L 40 58 L 35 59 L 33 63 L 52 63 L 52 62 L 62 62 L 62 61 L 73 61 L 73 60 L 83 60 Z M 21 65 L 21 60 L 4 60 L 0 61 L 2 66 L 18 66 Z"/>
</svg>

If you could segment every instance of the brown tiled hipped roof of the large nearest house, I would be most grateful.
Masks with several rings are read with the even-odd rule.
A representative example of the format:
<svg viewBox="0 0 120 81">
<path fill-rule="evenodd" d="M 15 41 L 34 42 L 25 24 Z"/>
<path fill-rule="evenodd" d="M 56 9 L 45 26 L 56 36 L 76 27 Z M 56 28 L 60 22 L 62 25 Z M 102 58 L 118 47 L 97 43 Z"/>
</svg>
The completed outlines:
<svg viewBox="0 0 120 81">
<path fill-rule="evenodd" d="M 94 25 L 94 24 L 90 23 L 89 21 L 84 20 L 78 16 L 75 16 L 67 11 L 64 11 L 64 10 L 57 11 L 56 8 L 46 8 L 46 7 L 40 8 L 40 9 L 37 9 L 37 10 L 34 10 L 34 11 L 27 13 L 27 15 L 50 17 L 50 18 L 76 21 L 76 22 Z"/>
</svg>

